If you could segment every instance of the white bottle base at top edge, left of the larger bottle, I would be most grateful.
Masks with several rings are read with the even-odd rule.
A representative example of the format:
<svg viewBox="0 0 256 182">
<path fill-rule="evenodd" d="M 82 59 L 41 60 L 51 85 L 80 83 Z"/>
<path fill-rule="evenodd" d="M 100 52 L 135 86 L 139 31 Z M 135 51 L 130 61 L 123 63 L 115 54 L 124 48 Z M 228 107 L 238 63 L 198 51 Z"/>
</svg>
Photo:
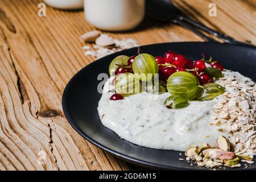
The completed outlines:
<svg viewBox="0 0 256 182">
<path fill-rule="evenodd" d="M 44 0 L 47 5 L 57 9 L 75 10 L 84 7 L 84 0 Z"/>
</svg>

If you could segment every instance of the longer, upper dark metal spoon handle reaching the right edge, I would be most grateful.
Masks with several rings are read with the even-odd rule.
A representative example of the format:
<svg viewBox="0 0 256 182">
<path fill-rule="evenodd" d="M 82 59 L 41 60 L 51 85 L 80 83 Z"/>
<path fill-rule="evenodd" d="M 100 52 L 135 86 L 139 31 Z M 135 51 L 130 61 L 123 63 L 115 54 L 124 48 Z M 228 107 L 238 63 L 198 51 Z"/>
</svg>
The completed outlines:
<svg viewBox="0 0 256 182">
<path fill-rule="evenodd" d="M 203 23 L 196 22 L 195 20 L 190 19 L 186 16 L 179 16 L 179 20 L 181 20 L 183 22 L 186 22 L 186 23 L 189 23 L 192 26 L 195 26 L 195 27 L 199 28 L 200 30 L 205 31 L 210 35 L 216 36 L 217 38 L 223 40 L 225 43 L 241 44 L 243 46 L 253 46 L 253 45 L 248 44 L 248 43 L 240 42 L 240 41 L 238 41 L 238 40 L 236 40 L 236 39 L 234 39 L 234 38 L 232 38 L 232 37 L 230 37 L 226 34 L 223 34 L 222 32 L 213 30 L 212 28 L 209 28 L 209 27 L 205 26 Z"/>
</svg>

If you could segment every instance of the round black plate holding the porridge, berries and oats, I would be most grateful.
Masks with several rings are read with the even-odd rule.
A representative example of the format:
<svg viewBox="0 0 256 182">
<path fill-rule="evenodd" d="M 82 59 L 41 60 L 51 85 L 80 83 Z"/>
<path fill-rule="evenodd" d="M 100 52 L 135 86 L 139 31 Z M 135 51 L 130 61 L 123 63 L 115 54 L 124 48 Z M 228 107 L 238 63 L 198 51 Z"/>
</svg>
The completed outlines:
<svg viewBox="0 0 256 182">
<path fill-rule="evenodd" d="M 141 47 L 142 52 L 151 55 L 163 55 L 168 50 L 182 53 L 190 59 L 200 59 L 201 53 L 208 58 L 220 61 L 224 68 L 239 71 L 243 75 L 256 80 L 256 49 L 220 43 L 181 42 L 152 44 Z M 156 150 L 121 139 L 113 131 L 101 124 L 97 113 L 101 94 L 97 92 L 99 73 L 108 73 L 110 61 L 118 55 L 136 55 L 137 48 L 113 53 L 103 57 L 81 69 L 68 82 L 63 93 L 63 110 L 73 128 L 96 146 L 118 156 L 147 167 L 165 169 L 206 169 L 190 166 L 187 162 L 178 160 L 184 158 L 180 152 L 171 150 Z M 241 168 L 237 168 L 241 169 Z M 237 170 L 233 169 L 233 170 Z M 256 164 L 246 168 L 256 169 Z"/>
</svg>

